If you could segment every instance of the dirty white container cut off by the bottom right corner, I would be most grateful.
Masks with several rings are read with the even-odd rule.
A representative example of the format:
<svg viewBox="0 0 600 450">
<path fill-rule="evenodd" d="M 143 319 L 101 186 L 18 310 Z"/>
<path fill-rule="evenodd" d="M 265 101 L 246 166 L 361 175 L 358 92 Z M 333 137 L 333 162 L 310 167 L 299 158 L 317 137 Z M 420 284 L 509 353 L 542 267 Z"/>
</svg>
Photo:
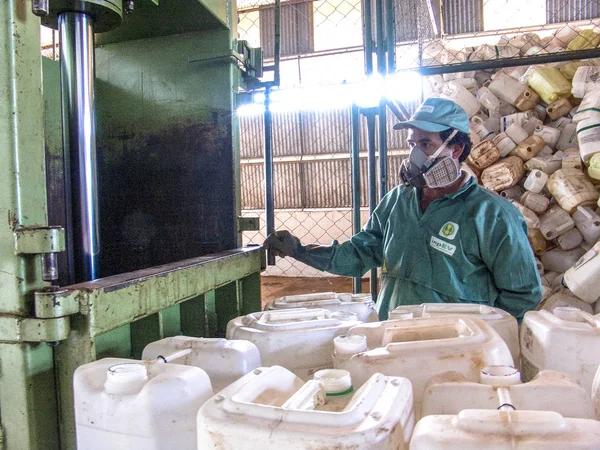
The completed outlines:
<svg viewBox="0 0 600 450">
<path fill-rule="evenodd" d="M 599 442 L 596 420 L 552 411 L 465 409 L 421 419 L 410 450 L 593 450 Z"/>
</svg>

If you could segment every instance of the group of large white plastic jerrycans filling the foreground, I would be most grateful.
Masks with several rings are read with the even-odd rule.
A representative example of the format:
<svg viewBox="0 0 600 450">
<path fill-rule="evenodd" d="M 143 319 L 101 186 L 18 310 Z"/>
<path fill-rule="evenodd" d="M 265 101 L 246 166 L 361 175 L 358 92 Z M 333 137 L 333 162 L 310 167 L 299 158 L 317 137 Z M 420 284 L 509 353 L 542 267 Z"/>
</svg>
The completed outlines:
<svg viewBox="0 0 600 450">
<path fill-rule="evenodd" d="M 78 448 L 598 449 L 600 315 L 287 296 L 73 379 Z M 519 336 L 520 334 L 520 336 Z M 568 444 L 567 444 L 568 443 Z"/>
</svg>

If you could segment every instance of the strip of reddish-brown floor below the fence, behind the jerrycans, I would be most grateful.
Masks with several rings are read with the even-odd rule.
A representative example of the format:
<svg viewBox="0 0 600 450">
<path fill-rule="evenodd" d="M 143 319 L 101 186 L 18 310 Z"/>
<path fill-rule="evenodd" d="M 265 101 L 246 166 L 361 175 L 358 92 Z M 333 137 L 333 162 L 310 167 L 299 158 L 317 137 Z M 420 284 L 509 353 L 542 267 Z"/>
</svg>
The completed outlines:
<svg viewBox="0 0 600 450">
<path fill-rule="evenodd" d="M 362 291 L 369 292 L 369 279 L 362 280 Z M 352 292 L 352 278 L 347 277 L 261 277 L 262 304 L 285 295 L 314 292 Z"/>
</svg>

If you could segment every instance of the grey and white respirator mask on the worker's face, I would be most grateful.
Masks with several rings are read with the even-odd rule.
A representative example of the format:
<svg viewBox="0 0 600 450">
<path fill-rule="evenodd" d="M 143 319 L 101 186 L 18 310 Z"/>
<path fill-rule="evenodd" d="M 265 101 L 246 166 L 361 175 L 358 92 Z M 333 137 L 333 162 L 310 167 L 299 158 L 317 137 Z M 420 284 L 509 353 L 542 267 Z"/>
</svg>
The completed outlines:
<svg viewBox="0 0 600 450">
<path fill-rule="evenodd" d="M 444 143 L 432 155 L 427 154 L 419 147 L 413 147 L 407 159 L 400 165 L 400 179 L 405 186 L 419 189 L 424 187 L 442 188 L 454 183 L 460 176 L 458 162 L 450 156 L 437 157 L 442 153 L 448 143 L 456 136 L 454 130 Z"/>
</svg>

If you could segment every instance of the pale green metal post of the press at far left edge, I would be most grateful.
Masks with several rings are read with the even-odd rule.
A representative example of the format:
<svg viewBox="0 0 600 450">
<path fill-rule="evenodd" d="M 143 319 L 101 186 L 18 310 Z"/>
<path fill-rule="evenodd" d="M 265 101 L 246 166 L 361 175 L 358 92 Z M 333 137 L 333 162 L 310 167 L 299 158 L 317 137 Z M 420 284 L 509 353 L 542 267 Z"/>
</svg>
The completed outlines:
<svg viewBox="0 0 600 450">
<path fill-rule="evenodd" d="M 38 255 L 17 255 L 15 232 L 47 225 L 40 21 L 29 2 L 0 2 L 0 317 L 31 317 L 44 286 Z M 57 448 L 52 348 L 0 336 L 5 448 Z"/>
</svg>

